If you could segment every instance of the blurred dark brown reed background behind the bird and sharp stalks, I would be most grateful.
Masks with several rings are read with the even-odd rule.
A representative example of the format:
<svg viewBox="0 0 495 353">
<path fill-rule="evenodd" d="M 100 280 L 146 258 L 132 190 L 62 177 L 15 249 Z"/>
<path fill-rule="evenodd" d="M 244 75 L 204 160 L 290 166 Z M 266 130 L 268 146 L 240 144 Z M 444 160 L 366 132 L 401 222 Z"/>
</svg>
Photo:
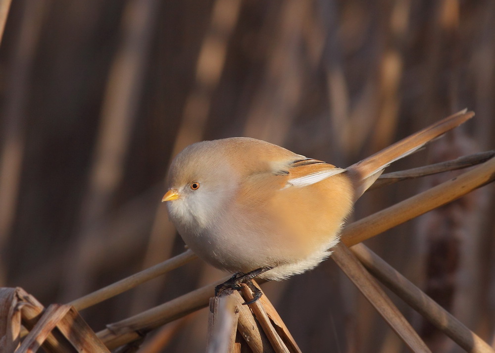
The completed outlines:
<svg viewBox="0 0 495 353">
<path fill-rule="evenodd" d="M 0 286 L 67 303 L 182 252 L 160 200 L 196 141 L 249 136 L 345 167 L 468 107 L 472 122 L 393 168 L 494 149 L 494 68 L 492 0 L 13 1 Z M 454 175 L 370 192 L 352 217 Z M 493 194 L 367 242 L 492 344 Z M 196 260 L 82 314 L 98 331 L 224 275 Z M 264 288 L 304 352 L 404 352 L 333 261 Z M 459 352 L 397 304 L 433 352 Z M 162 352 L 203 352 L 206 317 L 169 324 Z"/>
</svg>

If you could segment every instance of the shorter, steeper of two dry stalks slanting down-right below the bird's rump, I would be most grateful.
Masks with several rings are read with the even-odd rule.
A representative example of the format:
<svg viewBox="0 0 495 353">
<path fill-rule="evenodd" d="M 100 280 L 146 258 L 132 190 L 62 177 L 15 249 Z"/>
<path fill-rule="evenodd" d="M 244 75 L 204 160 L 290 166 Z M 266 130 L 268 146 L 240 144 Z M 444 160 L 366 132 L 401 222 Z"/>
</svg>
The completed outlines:
<svg viewBox="0 0 495 353">
<path fill-rule="evenodd" d="M 431 352 L 364 266 L 340 243 L 331 258 L 413 352 Z"/>
</svg>

